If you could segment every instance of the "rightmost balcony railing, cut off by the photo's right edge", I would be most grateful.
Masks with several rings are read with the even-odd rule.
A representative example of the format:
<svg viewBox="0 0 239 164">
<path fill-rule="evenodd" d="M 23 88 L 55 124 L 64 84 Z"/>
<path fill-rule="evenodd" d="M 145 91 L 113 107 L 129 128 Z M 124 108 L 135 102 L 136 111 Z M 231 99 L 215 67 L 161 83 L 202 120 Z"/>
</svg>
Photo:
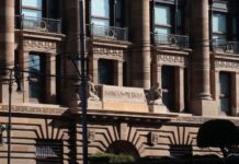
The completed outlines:
<svg viewBox="0 0 239 164">
<path fill-rule="evenodd" d="M 226 39 L 213 39 L 213 51 L 239 54 L 239 42 L 228 42 Z"/>
</svg>

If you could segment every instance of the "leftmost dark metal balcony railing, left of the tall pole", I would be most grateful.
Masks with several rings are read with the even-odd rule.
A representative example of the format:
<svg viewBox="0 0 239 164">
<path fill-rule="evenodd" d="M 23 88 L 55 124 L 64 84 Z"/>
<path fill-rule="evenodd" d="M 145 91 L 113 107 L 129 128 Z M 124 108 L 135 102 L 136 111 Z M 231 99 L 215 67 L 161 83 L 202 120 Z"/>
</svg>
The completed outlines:
<svg viewBox="0 0 239 164">
<path fill-rule="evenodd" d="M 15 16 L 15 27 L 45 33 L 61 33 L 61 21 L 45 17 Z"/>
</svg>

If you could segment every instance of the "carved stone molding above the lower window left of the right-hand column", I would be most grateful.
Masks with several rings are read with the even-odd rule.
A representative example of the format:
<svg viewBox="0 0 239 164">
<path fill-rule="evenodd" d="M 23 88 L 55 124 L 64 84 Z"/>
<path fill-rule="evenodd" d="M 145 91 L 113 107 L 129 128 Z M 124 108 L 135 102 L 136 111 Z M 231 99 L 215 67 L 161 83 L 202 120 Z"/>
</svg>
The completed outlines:
<svg viewBox="0 0 239 164">
<path fill-rule="evenodd" d="M 178 66 L 186 66 L 186 59 L 183 56 L 175 56 L 175 55 L 157 55 L 157 62 L 158 65 L 178 65 Z"/>
</svg>

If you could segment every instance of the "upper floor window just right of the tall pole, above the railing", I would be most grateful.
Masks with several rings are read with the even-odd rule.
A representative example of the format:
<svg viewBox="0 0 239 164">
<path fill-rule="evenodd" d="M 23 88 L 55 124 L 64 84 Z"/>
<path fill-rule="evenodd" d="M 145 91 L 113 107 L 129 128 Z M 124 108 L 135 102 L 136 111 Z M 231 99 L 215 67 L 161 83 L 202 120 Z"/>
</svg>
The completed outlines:
<svg viewBox="0 0 239 164">
<path fill-rule="evenodd" d="M 123 26 L 123 0 L 91 0 L 91 23 Z"/>
</svg>

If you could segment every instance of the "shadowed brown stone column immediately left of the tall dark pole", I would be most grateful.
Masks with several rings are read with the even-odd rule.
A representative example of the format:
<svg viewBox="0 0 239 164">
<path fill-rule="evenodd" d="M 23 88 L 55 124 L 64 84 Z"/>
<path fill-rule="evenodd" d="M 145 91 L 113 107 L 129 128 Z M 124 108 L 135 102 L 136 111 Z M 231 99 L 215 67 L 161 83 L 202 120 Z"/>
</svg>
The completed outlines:
<svg viewBox="0 0 239 164">
<path fill-rule="evenodd" d="M 62 25 L 66 28 L 67 40 L 66 40 L 66 51 L 71 55 L 72 59 L 79 52 L 79 1 L 77 0 L 67 0 L 64 1 L 64 20 Z M 76 61 L 77 62 L 77 61 Z M 77 70 L 72 67 L 71 60 L 66 60 L 65 62 L 65 75 L 78 77 Z M 77 81 L 62 81 L 62 103 L 69 105 L 69 102 L 76 99 L 76 84 Z"/>
</svg>

